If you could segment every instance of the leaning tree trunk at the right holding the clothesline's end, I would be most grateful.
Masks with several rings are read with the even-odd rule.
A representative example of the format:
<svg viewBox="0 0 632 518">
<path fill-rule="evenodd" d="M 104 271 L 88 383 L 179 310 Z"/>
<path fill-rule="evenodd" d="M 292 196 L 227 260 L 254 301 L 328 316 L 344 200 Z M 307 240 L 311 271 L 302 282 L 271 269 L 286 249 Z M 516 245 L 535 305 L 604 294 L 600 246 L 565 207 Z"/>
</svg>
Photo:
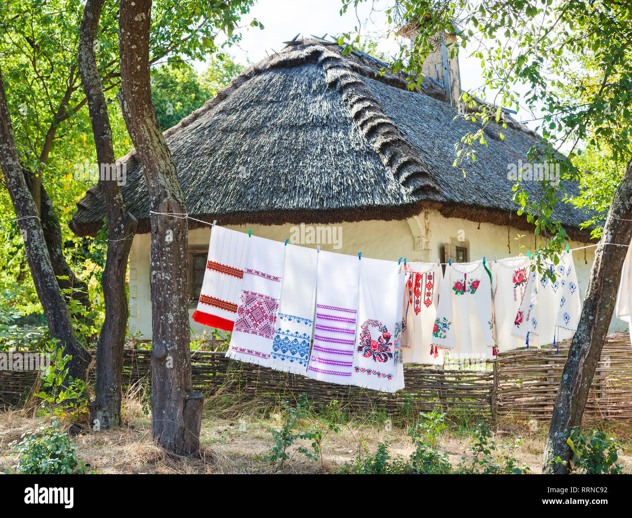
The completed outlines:
<svg viewBox="0 0 632 518">
<path fill-rule="evenodd" d="M 580 323 L 571 342 L 553 407 L 544 450 L 545 473 L 566 474 L 569 470 L 572 452 L 566 443 L 566 433 L 581 426 L 590 383 L 614 312 L 626 247 L 632 239 L 632 222 L 629 220 L 632 220 L 632 160 L 628 162 L 626 175 L 612 200 L 590 270 Z M 557 457 L 566 461 L 566 466 L 556 462 Z"/>
</svg>

